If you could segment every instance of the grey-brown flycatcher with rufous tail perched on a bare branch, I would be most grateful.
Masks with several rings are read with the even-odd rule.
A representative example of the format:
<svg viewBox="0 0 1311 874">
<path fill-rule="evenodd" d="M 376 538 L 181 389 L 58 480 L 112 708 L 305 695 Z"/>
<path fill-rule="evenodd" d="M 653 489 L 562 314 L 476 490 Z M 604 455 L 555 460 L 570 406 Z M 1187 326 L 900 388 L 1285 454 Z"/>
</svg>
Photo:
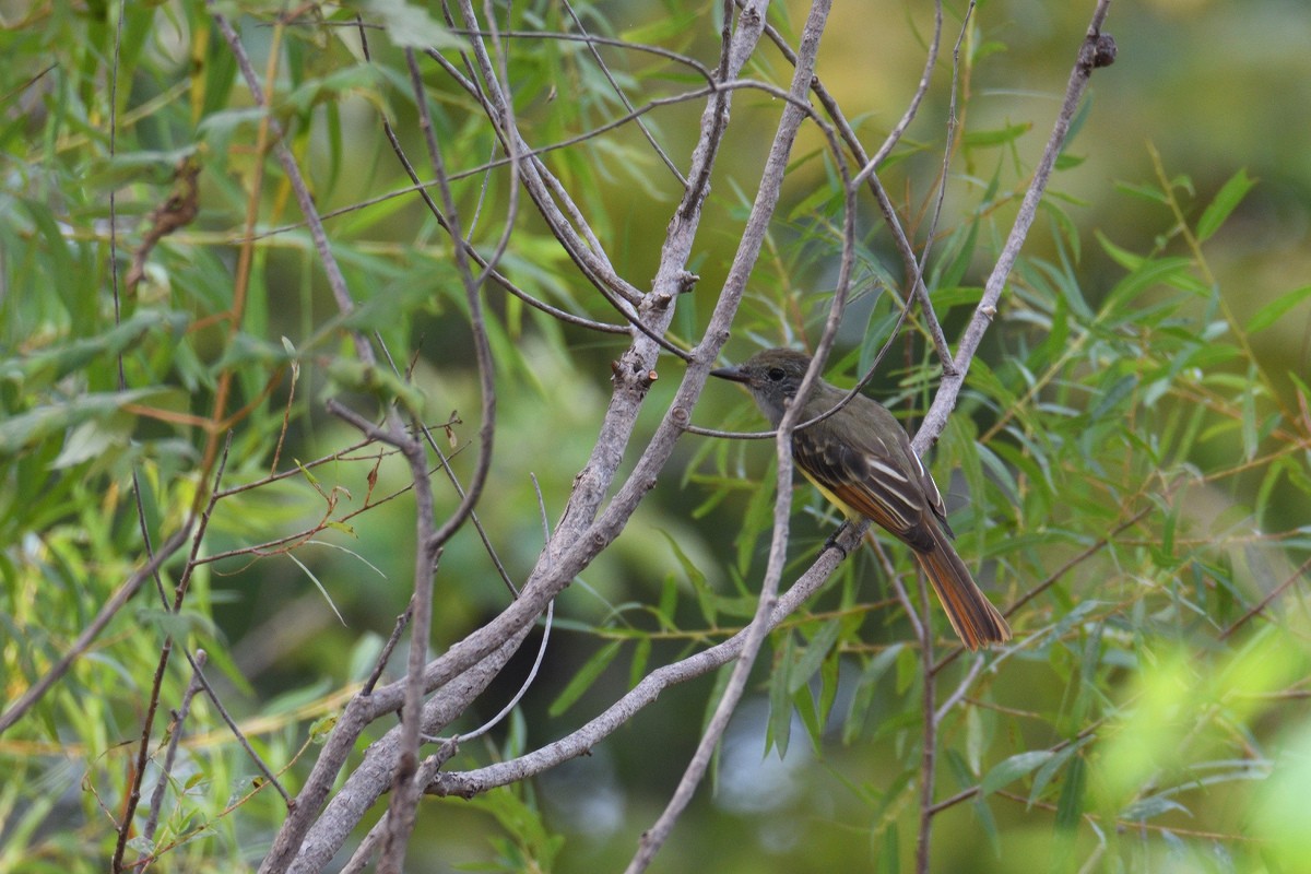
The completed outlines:
<svg viewBox="0 0 1311 874">
<path fill-rule="evenodd" d="M 713 376 L 742 383 L 777 427 L 794 402 L 810 356 L 767 349 Z M 801 402 L 797 425 L 823 415 L 847 392 L 819 380 Z M 911 548 L 965 646 L 977 650 L 1011 639 L 1011 628 L 979 591 L 952 548 L 947 508 L 906 431 L 876 401 L 856 394 L 832 415 L 792 434 L 792 457 L 819 491 L 848 518 L 868 516 Z"/>
</svg>

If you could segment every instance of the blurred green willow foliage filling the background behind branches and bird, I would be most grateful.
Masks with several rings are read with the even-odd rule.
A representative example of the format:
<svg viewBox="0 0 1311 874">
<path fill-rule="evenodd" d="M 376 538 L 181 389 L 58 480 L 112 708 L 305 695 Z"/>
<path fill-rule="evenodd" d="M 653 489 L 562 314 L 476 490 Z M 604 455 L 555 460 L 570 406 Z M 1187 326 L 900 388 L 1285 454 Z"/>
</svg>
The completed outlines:
<svg viewBox="0 0 1311 874">
<path fill-rule="evenodd" d="M 391 401 L 421 411 L 461 481 L 477 455 L 481 410 L 450 240 L 382 124 L 391 121 L 412 160 L 423 155 L 400 47 L 439 45 L 454 62 L 459 38 L 417 4 L 361 4 L 379 25 L 366 60 L 353 9 L 218 7 L 241 13 L 267 111 L 202 4 L 0 3 L 5 708 L 218 494 L 195 554 L 165 563 L 0 735 L 0 871 L 105 870 L 169 638 L 207 653 L 225 706 L 295 790 L 405 608 L 413 569 L 404 463 L 328 417 L 326 397 L 366 415 Z M 713 66 L 717 33 L 700 5 L 574 9 L 598 35 Z M 1298 9 L 1159 0 L 1112 10 L 1120 60 L 1093 79 L 932 459 L 960 550 L 994 599 L 1013 605 L 1016 628 L 982 668 L 950 655 L 937 663 L 928 705 L 950 708 L 937 722 L 933 870 L 1006 871 L 1025 860 L 1054 871 L 1291 871 L 1311 852 L 1299 795 L 1311 761 L 1311 157 L 1289 123 L 1311 69 L 1306 17 L 1287 14 Z M 964 10 L 947 4 L 945 47 Z M 771 9 L 785 34 L 804 13 Z M 506 14 L 518 30 L 577 30 L 545 0 Z M 1087 14 L 1019 0 L 973 12 L 926 273 L 949 337 L 1009 228 Z M 899 117 L 931 28 L 928 4 L 835 10 L 819 76 L 867 143 Z M 531 143 L 565 143 L 627 111 L 582 43 L 506 42 Z M 600 52 L 635 105 L 700 84 L 665 58 Z M 465 233 L 490 250 L 510 185 L 496 138 L 435 64 L 421 68 Z M 777 84 L 791 76 L 764 46 L 747 72 Z M 944 51 L 882 172 L 920 246 L 950 81 Z M 772 100 L 741 92 L 735 101 L 690 265 L 701 280 L 674 322 L 679 342 L 705 325 L 776 121 Z M 700 109 L 688 101 L 644 115 L 680 166 Z M 332 216 L 349 314 L 332 300 L 271 156 L 274 119 Z M 645 287 L 680 191 L 641 132 L 624 124 L 544 160 L 616 273 Z M 734 328 L 735 360 L 762 343 L 818 337 L 840 245 L 835 180 L 808 132 Z M 161 210 L 170 198 L 172 211 Z M 873 206 L 861 208 L 835 383 L 869 366 L 899 312 L 901 265 Z M 152 240 L 168 215 L 189 210 Z M 620 321 L 536 216 L 520 210 L 514 221 L 501 265 L 514 283 L 578 316 Z M 520 579 L 541 545 L 539 489 L 549 523 L 595 440 L 607 362 L 625 338 L 564 325 L 497 286 L 484 297 L 499 422 L 479 514 Z M 872 393 L 914 427 L 937 372 L 922 321 L 909 324 Z M 401 376 L 359 363 L 347 328 L 385 343 Z M 646 401 L 650 427 L 680 376 L 673 358 L 663 367 Z M 695 418 L 762 425 L 724 385 L 709 387 Z M 764 567 L 770 455 L 767 442 L 684 438 L 624 536 L 560 599 L 543 675 L 510 725 L 447 768 L 536 750 L 652 670 L 739 630 Z M 438 512 L 448 512 L 459 495 L 440 474 L 435 482 Z M 796 504 L 789 578 L 835 524 L 809 487 Z M 915 590 L 909 556 L 891 548 L 886 558 Z M 863 550 L 772 637 L 713 786 L 653 870 L 914 870 L 924 658 L 885 578 Z M 182 580 L 182 607 L 166 609 Z M 472 528 L 443 553 L 437 599 L 435 647 L 507 603 Z M 932 621 L 945 642 L 941 616 Z M 519 658 L 461 730 L 509 700 L 532 656 Z M 190 670 L 174 653 L 160 677 L 126 860 L 253 870 L 286 807 L 203 694 L 182 729 L 157 831 L 140 832 Z M 666 802 L 718 683 L 667 691 L 593 756 L 539 780 L 473 802 L 425 802 L 409 870 L 620 869 Z"/>
</svg>

